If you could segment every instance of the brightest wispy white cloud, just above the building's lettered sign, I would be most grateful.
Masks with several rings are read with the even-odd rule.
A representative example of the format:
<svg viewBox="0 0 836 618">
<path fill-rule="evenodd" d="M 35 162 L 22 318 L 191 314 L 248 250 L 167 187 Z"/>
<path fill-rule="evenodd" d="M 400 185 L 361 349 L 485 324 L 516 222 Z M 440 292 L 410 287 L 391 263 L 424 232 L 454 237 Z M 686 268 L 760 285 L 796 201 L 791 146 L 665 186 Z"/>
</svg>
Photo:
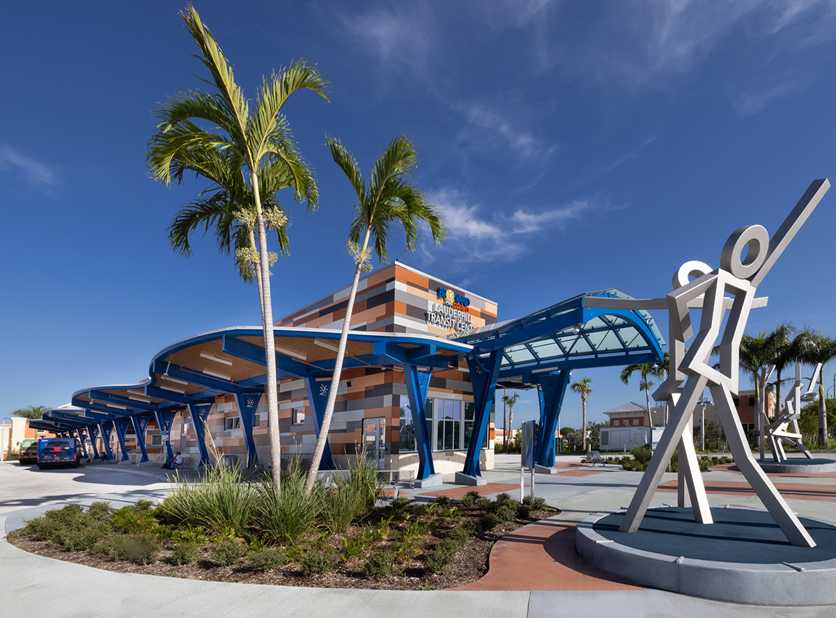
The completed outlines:
<svg viewBox="0 0 836 618">
<path fill-rule="evenodd" d="M 514 261 L 522 257 L 549 233 L 563 231 L 573 221 L 602 210 L 612 210 L 594 200 L 574 200 L 538 210 L 516 208 L 488 212 L 482 205 L 469 203 L 457 190 L 441 190 L 428 195 L 444 215 L 448 240 L 441 246 L 456 248 L 456 260 L 463 263 Z M 467 251 L 461 251 L 466 246 Z M 440 250 L 433 250 L 433 256 Z M 422 252 L 431 259 L 428 251 Z"/>
</svg>

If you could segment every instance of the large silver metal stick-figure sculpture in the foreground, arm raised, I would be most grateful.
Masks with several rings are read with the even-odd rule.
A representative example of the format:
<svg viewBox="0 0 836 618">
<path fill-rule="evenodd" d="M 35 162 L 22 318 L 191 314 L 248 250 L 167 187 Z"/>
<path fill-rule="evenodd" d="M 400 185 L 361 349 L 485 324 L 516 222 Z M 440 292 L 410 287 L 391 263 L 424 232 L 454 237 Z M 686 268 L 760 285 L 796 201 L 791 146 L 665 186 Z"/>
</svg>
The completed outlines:
<svg viewBox="0 0 836 618">
<path fill-rule="evenodd" d="M 757 286 L 829 188 L 828 180 L 814 180 L 771 240 L 762 225 L 749 225 L 735 230 L 721 251 L 720 268 L 712 271 L 710 266 L 699 261 L 683 264 L 674 275 L 674 290 L 665 299 L 600 298 L 593 301 L 594 305 L 588 303 L 590 306 L 631 309 L 664 307 L 668 310 L 670 374 L 653 397 L 668 404 L 671 410 L 670 421 L 630 507 L 624 514 L 621 531 L 635 532 L 639 529 L 641 519 L 645 516 L 650 499 L 659 486 L 677 444 L 680 466 L 679 504 L 685 506 L 687 499 L 690 499 L 696 521 L 702 524 L 713 522 L 689 430 L 692 410 L 707 386 L 737 467 L 790 542 L 793 545 L 815 546 L 813 538 L 798 521 L 798 517 L 752 458 L 732 396 L 738 392 L 739 347 L 749 312 L 754 307 L 766 305 L 766 299 L 755 298 Z M 742 251 L 747 247 L 747 255 L 742 258 Z M 693 280 L 689 281 L 691 277 Z M 689 309 L 702 310 L 700 329 L 696 336 L 691 327 Z M 718 368 L 714 368 L 709 364 L 709 357 L 717 339 L 721 337 L 720 330 L 726 312 L 729 315 L 726 330 L 720 339 L 720 363 Z M 685 343 L 691 337 L 693 340 L 686 352 Z"/>
</svg>

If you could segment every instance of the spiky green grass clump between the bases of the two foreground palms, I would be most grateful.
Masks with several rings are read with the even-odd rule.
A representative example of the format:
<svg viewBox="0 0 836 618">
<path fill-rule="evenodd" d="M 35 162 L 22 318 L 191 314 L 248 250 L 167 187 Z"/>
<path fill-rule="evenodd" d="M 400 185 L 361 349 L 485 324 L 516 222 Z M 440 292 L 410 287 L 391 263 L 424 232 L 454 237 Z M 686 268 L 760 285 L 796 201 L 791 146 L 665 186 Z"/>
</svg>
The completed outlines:
<svg viewBox="0 0 836 618">
<path fill-rule="evenodd" d="M 282 492 L 276 493 L 273 480 L 265 478 L 257 486 L 257 527 L 278 543 L 296 543 L 316 525 L 323 503 L 323 484 L 314 485 L 311 494 L 304 491 L 306 473 L 294 460 L 282 470 Z"/>
</svg>

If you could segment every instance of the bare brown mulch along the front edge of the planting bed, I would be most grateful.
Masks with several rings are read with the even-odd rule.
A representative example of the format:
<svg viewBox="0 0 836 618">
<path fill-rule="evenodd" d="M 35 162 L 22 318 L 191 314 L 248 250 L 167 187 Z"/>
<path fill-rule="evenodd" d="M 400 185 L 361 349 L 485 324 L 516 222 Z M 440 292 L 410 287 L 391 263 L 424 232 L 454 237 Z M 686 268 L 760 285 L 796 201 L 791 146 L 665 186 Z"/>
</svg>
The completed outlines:
<svg viewBox="0 0 836 618">
<path fill-rule="evenodd" d="M 362 572 L 362 560 L 353 558 L 340 563 L 332 571 L 318 575 L 303 575 L 298 562 L 293 562 L 275 570 L 263 572 L 252 570 L 241 561 L 236 565 L 224 567 L 215 564 L 208 550 L 203 550 L 199 558 L 189 565 L 173 565 L 168 559 L 172 554 L 173 542 L 167 542 L 161 550 L 158 560 L 150 565 L 135 565 L 127 560 L 116 560 L 108 555 L 94 551 L 70 551 L 46 541 L 38 541 L 30 536 L 11 533 L 8 541 L 22 550 L 47 556 L 57 560 L 87 565 L 96 569 L 118 573 L 141 573 L 182 577 L 191 580 L 227 581 L 247 584 L 298 585 L 320 588 L 357 588 L 377 590 L 441 590 L 478 580 L 487 573 L 487 560 L 493 544 L 505 534 L 524 525 L 533 524 L 539 519 L 546 519 L 558 514 L 559 509 L 547 507 L 534 510 L 529 519 L 516 519 L 498 524 L 489 532 L 471 537 L 456 553 L 455 559 L 441 573 L 432 573 L 426 569 L 423 555 L 441 539 L 430 537 L 421 555 L 398 565 L 391 575 L 366 578 Z M 475 514 L 474 514 L 475 515 Z M 393 522 L 394 524 L 394 522 Z M 352 530 L 349 530 L 349 534 Z M 329 539 L 329 545 L 339 547 L 339 538 Z M 385 545 L 385 544 L 381 544 Z"/>
</svg>

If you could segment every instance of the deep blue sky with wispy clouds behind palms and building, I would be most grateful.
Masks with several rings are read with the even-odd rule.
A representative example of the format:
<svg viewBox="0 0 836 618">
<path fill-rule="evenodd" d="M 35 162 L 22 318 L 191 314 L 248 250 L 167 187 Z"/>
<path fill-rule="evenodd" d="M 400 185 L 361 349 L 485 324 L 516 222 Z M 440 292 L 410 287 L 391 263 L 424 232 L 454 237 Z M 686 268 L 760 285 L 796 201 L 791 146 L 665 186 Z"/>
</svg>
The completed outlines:
<svg viewBox="0 0 836 618">
<path fill-rule="evenodd" d="M 257 291 L 212 238 L 191 259 L 166 227 L 201 190 L 145 172 L 150 110 L 200 88 L 176 2 L 12 3 L 0 20 L 3 321 L 0 415 L 79 388 L 135 382 L 184 337 L 259 324 Z M 334 135 L 370 168 L 395 134 L 421 152 L 417 185 L 449 240 L 390 259 L 519 317 L 581 291 L 670 291 L 687 260 L 719 266 L 741 225 L 774 233 L 811 180 L 836 170 L 836 5 L 688 2 L 196 4 L 252 96 L 263 74 L 317 63 L 331 103 L 285 111 L 319 180 L 292 208 L 273 268 L 281 317 L 350 281 L 351 190 Z M 281 196 L 280 196 L 281 197 Z M 836 190 L 769 276 L 747 332 L 780 322 L 836 335 Z M 658 322 L 666 332 L 663 315 Z M 825 380 L 833 379 L 828 368 Z M 589 419 L 643 402 L 616 370 L 593 378 Z M 533 393 L 515 413 L 533 418 Z M 578 426 L 568 393 L 563 425 Z"/>
</svg>

